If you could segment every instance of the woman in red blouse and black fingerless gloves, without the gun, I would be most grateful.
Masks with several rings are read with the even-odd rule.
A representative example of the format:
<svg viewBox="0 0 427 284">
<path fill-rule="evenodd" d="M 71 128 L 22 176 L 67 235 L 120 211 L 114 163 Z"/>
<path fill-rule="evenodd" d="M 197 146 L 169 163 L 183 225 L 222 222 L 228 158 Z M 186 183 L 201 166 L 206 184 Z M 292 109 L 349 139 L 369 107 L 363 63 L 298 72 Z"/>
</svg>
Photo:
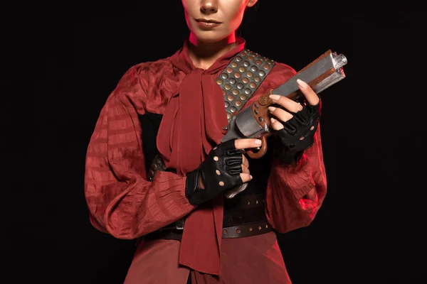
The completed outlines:
<svg viewBox="0 0 427 284">
<path fill-rule="evenodd" d="M 263 158 L 244 153 L 258 139 L 221 143 L 234 111 L 295 75 L 236 37 L 255 2 L 182 0 L 183 48 L 131 67 L 100 113 L 85 196 L 95 228 L 140 239 L 127 284 L 291 283 L 275 231 L 309 225 L 325 198 L 320 99 L 305 82 L 304 101 L 270 96 Z"/>
</svg>

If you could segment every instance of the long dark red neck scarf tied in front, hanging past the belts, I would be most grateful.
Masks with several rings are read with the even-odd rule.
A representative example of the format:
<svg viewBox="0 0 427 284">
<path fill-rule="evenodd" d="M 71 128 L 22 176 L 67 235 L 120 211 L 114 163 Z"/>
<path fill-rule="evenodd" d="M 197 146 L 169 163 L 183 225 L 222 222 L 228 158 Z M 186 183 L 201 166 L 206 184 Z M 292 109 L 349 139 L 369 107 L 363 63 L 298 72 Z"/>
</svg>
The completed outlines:
<svg viewBox="0 0 427 284">
<path fill-rule="evenodd" d="M 243 38 L 207 70 L 196 68 L 189 58 L 188 43 L 170 58 L 186 76 L 164 112 L 157 135 L 157 148 L 168 168 L 186 175 L 199 167 L 215 144 L 220 143 L 228 124 L 223 92 L 216 76 L 245 45 Z M 219 275 L 223 224 L 222 195 L 212 207 L 199 207 L 185 220 L 179 263 L 202 273 Z"/>
</svg>

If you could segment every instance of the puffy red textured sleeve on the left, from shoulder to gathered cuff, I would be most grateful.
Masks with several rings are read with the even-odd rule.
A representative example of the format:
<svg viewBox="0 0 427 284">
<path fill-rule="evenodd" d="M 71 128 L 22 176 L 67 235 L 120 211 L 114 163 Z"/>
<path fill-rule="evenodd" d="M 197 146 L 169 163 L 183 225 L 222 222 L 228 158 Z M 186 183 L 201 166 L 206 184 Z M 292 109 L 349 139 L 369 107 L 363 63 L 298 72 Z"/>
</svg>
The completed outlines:
<svg viewBox="0 0 427 284">
<path fill-rule="evenodd" d="M 164 92 L 167 86 L 152 86 L 161 81 L 152 76 L 142 82 L 140 73 L 164 74 L 159 69 L 135 66 L 125 73 L 102 108 L 88 145 L 85 197 L 90 222 L 118 239 L 143 236 L 194 209 L 185 197 L 185 177 L 158 171 L 152 182 L 147 180 L 138 114 L 162 108 L 167 96 L 152 99 L 147 89 Z"/>
</svg>

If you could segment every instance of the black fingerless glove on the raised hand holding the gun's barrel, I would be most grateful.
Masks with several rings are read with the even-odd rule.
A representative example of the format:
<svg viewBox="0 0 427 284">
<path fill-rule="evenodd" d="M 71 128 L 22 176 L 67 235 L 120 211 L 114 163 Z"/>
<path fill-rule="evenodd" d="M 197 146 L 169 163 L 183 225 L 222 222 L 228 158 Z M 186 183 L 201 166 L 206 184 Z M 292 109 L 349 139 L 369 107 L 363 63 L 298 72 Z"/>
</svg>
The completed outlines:
<svg viewBox="0 0 427 284">
<path fill-rule="evenodd" d="M 282 122 L 284 128 L 276 133 L 276 156 L 281 163 L 288 165 L 298 163 L 302 153 L 313 145 L 322 109 L 321 100 L 315 106 L 306 101 L 296 102 L 302 105 L 302 110 L 289 111 L 293 115 L 292 119 Z"/>
</svg>

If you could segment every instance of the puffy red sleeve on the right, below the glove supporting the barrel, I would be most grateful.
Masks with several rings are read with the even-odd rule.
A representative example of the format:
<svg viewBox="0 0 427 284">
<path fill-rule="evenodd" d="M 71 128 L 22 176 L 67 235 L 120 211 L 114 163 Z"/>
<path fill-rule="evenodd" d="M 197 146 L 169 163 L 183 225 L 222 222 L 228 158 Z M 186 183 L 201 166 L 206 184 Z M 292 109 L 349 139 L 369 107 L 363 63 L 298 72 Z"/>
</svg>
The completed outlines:
<svg viewBox="0 0 427 284">
<path fill-rule="evenodd" d="M 314 198 L 307 196 L 310 191 Z M 308 226 L 322 206 L 326 191 L 319 126 L 313 146 L 297 165 L 281 165 L 274 160 L 265 201 L 268 222 L 280 233 Z"/>
</svg>

